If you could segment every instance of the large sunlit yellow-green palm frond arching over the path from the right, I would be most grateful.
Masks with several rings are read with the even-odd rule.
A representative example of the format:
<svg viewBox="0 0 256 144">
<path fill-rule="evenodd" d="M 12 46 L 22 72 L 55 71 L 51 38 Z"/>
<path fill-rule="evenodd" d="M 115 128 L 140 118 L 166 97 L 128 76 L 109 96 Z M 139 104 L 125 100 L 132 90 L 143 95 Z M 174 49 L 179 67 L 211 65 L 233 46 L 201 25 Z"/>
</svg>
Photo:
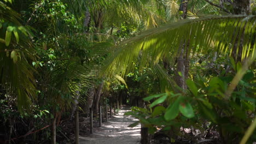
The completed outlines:
<svg viewBox="0 0 256 144">
<path fill-rule="evenodd" d="M 249 53 L 255 51 L 255 27 L 256 16 L 241 15 L 174 22 L 123 41 L 103 71 L 124 76 L 133 70 L 133 64 L 139 61 L 140 52 L 141 67 L 149 62 L 158 63 L 164 57 L 176 57 L 180 52 L 181 42 L 188 44 L 191 55 L 208 51 L 231 55 L 235 43 L 241 43 L 243 46 L 238 49 L 242 49 L 242 59 L 245 59 Z"/>
</svg>

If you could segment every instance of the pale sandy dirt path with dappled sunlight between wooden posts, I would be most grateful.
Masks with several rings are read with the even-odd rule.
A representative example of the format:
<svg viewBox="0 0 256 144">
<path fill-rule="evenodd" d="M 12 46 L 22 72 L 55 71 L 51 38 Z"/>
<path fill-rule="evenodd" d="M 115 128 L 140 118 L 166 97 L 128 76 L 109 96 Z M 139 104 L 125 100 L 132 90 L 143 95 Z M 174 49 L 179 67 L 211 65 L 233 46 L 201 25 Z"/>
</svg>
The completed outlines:
<svg viewBox="0 0 256 144">
<path fill-rule="evenodd" d="M 96 128 L 94 134 L 80 137 L 81 144 L 133 144 L 139 143 L 141 139 L 141 125 L 129 128 L 131 123 L 137 119 L 131 116 L 124 116 L 129 111 L 129 107 L 123 107 L 117 116 L 112 116 L 108 122 L 102 124 L 101 128 Z"/>
</svg>

